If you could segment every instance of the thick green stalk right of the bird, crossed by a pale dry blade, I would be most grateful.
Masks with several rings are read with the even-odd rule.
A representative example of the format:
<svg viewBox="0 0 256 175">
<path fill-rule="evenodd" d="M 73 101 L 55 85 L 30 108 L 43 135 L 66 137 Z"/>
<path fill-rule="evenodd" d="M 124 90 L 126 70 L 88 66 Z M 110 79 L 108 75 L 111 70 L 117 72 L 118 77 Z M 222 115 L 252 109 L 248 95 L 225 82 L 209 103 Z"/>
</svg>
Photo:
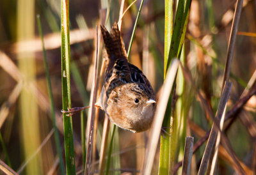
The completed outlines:
<svg viewBox="0 0 256 175">
<path fill-rule="evenodd" d="M 173 58 L 179 59 L 182 49 L 186 28 L 188 24 L 188 16 L 191 0 L 179 0 L 177 6 L 177 13 L 175 16 L 175 22 L 173 24 L 172 31 L 172 1 L 166 0 L 165 2 L 165 31 L 164 31 L 164 79 L 168 67 L 172 63 Z M 174 88 L 173 88 L 174 89 Z M 172 96 L 173 91 L 168 100 L 168 107 L 164 114 L 163 127 L 166 132 L 170 133 L 170 127 L 172 128 L 172 138 L 161 135 L 160 141 L 160 157 L 159 157 L 159 174 L 172 174 L 172 165 L 174 161 L 175 142 L 174 137 L 177 135 L 177 116 L 174 118 L 172 112 Z M 172 116 L 172 118 L 171 118 Z M 171 123 L 172 121 L 172 123 Z M 175 142 L 173 142 L 175 141 Z"/>
</svg>

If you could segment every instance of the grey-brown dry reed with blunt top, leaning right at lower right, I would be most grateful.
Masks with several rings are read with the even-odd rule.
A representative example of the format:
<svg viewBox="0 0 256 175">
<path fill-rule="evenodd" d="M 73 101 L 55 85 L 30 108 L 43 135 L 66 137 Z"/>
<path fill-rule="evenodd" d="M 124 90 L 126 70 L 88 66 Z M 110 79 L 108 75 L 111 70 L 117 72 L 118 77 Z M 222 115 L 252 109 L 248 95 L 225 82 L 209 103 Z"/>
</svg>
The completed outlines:
<svg viewBox="0 0 256 175">
<path fill-rule="evenodd" d="M 220 125 L 220 121 L 221 121 L 221 117 L 223 117 L 223 112 L 225 112 L 225 108 L 226 108 L 226 104 L 227 104 L 227 100 L 229 97 L 229 93 L 232 87 L 232 83 L 231 82 L 226 82 L 225 84 L 225 88 L 223 91 L 223 94 L 221 95 L 221 99 L 220 99 L 220 103 L 219 103 L 219 107 L 217 110 L 217 114 L 216 114 L 216 121 L 217 123 L 213 123 L 212 125 L 212 129 L 211 129 L 211 133 L 209 135 L 209 140 L 207 142 L 205 151 L 204 151 L 204 155 L 202 158 L 202 162 L 200 165 L 200 169 L 198 174 L 199 175 L 203 175 L 205 174 L 205 171 L 207 169 L 207 165 L 211 156 L 211 152 L 212 152 L 212 148 L 216 142 L 216 137 L 217 137 L 217 133 L 218 133 L 218 125 Z M 216 126 L 217 125 L 217 126 Z"/>
</svg>

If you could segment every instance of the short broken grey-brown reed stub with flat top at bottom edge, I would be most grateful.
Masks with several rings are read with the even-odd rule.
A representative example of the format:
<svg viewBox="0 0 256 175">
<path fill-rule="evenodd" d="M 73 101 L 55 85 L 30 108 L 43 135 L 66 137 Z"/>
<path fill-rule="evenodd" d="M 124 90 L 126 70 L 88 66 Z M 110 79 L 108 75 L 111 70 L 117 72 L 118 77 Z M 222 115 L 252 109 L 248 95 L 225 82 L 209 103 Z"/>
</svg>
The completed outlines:
<svg viewBox="0 0 256 175">
<path fill-rule="evenodd" d="M 184 156 L 182 162 L 182 175 L 189 175 L 191 160 L 193 155 L 193 143 L 194 137 L 186 137 L 185 148 L 184 148 Z"/>
</svg>

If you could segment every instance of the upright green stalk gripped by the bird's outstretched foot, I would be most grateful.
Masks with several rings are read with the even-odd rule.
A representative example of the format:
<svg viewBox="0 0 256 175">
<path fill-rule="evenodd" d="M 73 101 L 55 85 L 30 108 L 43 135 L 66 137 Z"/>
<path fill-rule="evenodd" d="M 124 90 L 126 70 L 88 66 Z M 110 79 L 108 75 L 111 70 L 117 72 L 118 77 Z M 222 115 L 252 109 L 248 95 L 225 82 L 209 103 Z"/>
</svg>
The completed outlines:
<svg viewBox="0 0 256 175">
<path fill-rule="evenodd" d="M 61 1 L 61 80 L 63 110 L 68 110 L 71 108 L 68 5 L 68 0 Z M 72 116 L 63 114 L 63 125 L 67 174 L 76 174 Z"/>
</svg>

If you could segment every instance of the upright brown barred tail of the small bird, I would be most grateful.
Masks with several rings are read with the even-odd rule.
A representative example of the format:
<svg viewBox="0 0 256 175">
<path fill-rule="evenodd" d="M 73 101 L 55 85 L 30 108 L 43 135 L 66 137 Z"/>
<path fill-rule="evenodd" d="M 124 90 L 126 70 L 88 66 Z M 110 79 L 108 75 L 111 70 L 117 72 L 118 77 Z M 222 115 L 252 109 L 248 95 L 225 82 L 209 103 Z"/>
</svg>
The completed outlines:
<svg viewBox="0 0 256 175">
<path fill-rule="evenodd" d="M 104 26 L 100 26 L 100 29 L 109 59 L 115 60 L 121 57 L 127 58 L 124 42 L 120 36 L 117 22 L 113 24 L 110 33 Z"/>
</svg>

